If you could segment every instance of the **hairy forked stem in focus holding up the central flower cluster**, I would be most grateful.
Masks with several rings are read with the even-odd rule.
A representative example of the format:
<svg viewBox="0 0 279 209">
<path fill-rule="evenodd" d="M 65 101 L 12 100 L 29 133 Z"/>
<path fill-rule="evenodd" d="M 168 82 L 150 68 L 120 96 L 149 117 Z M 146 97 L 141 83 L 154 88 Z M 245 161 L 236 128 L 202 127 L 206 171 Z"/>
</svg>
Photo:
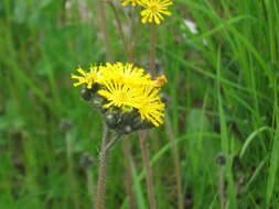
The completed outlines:
<svg viewBox="0 0 279 209">
<path fill-rule="evenodd" d="M 97 195 L 95 201 L 96 209 L 105 208 L 105 195 L 106 195 L 106 169 L 108 154 L 112 145 L 120 139 L 120 134 L 117 134 L 110 142 L 107 143 L 108 128 L 105 125 L 101 140 L 101 151 L 99 156 L 99 170 L 98 170 L 98 184 Z"/>
</svg>

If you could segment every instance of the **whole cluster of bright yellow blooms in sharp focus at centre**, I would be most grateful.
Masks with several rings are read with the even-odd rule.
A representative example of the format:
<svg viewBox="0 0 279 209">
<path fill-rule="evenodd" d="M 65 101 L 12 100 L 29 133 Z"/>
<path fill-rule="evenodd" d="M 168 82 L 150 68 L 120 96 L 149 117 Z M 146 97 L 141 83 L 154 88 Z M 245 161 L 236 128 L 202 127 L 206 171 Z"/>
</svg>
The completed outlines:
<svg viewBox="0 0 279 209">
<path fill-rule="evenodd" d="M 144 74 L 143 68 L 129 63 L 106 63 L 105 66 L 92 66 L 89 72 L 79 67 L 77 72 L 82 76 L 72 75 L 72 78 L 77 79 L 74 86 L 86 85 L 92 89 L 94 85 L 98 85 L 97 94 L 107 100 L 105 108 L 133 108 L 141 120 L 155 127 L 163 123 L 165 105 L 158 94 L 167 82 L 165 76 L 152 79 L 150 74 Z"/>
</svg>

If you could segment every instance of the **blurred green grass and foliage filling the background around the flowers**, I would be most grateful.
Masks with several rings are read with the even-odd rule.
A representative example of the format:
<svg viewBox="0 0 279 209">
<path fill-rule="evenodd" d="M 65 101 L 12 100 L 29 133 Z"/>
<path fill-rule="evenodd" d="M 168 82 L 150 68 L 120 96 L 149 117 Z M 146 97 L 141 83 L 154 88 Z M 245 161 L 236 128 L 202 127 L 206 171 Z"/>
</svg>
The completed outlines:
<svg viewBox="0 0 279 209">
<path fill-rule="evenodd" d="M 96 0 L 72 0 L 68 9 L 66 2 L 0 1 L 0 208 L 92 208 L 79 161 L 85 152 L 94 157 L 95 183 L 101 119 L 81 99 L 69 77 L 78 65 L 106 62 L 99 29 L 105 23 L 98 19 Z M 127 62 L 114 14 L 106 10 L 114 61 Z M 119 11 L 129 30 L 129 15 Z M 173 15 L 157 26 L 157 61 L 169 79 L 164 91 L 185 208 L 219 208 L 222 170 L 226 208 L 279 208 L 279 1 L 175 0 L 171 11 Z M 196 23 L 198 34 L 191 33 L 185 19 Z M 138 23 L 132 30 L 136 64 L 146 66 L 149 26 Z M 60 130 L 63 119 L 73 122 L 66 134 Z M 165 127 L 152 130 L 149 138 L 158 208 L 176 208 Z M 137 206 L 144 209 L 137 134 L 130 141 Z M 128 208 L 121 143 L 109 161 L 109 209 Z M 224 167 L 216 164 L 219 154 L 226 157 Z"/>
</svg>

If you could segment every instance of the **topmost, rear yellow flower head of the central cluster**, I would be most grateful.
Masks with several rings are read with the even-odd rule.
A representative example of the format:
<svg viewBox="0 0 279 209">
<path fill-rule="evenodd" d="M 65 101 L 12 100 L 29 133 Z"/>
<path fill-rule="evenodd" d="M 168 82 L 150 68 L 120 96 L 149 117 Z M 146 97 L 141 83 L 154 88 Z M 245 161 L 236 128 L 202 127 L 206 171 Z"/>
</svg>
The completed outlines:
<svg viewBox="0 0 279 209">
<path fill-rule="evenodd" d="M 118 84 L 126 85 L 128 87 L 137 87 L 142 85 L 151 85 L 153 80 L 150 80 L 151 75 L 143 74 L 143 68 L 135 67 L 132 64 L 107 63 L 106 66 L 100 66 L 100 73 L 103 79 L 100 82 L 107 80 L 115 80 Z"/>
</svg>

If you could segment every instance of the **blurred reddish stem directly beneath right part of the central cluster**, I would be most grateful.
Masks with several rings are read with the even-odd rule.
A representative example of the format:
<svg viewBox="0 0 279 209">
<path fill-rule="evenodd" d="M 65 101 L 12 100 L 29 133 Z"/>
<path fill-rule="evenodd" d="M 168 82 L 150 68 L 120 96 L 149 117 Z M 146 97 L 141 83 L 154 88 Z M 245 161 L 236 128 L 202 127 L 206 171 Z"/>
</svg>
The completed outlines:
<svg viewBox="0 0 279 209">
<path fill-rule="evenodd" d="M 147 187 L 148 187 L 148 199 L 149 199 L 149 206 L 150 209 L 157 208 L 155 202 L 155 195 L 154 195 L 154 186 L 153 186 L 153 178 L 152 178 L 152 169 L 150 166 L 150 156 L 149 156 L 149 150 L 147 147 L 147 131 L 142 131 L 140 133 L 140 146 L 141 146 L 141 154 L 143 158 L 143 166 L 146 169 L 146 178 L 147 178 Z"/>
</svg>

